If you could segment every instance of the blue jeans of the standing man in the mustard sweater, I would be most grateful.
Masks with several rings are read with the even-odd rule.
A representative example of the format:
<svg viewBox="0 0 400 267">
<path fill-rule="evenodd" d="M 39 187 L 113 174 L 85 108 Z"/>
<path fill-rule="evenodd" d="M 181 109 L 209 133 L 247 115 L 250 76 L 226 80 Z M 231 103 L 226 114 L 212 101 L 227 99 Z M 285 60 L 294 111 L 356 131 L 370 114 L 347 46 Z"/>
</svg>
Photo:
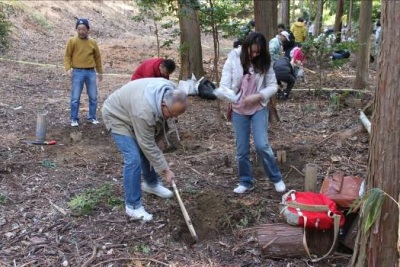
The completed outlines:
<svg viewBox="0 0 400 267">
<path fill-rule="evenodd" d="M 79 121 L 79 101 L 81 99 L 84 84 L 86 85 L 87 94 L 89 96 L 89 116 L 87 119 L 96 119 L 96 71 L 94 69 L 73 69 L 71 88 L 71 120 Z"/>
</svg>

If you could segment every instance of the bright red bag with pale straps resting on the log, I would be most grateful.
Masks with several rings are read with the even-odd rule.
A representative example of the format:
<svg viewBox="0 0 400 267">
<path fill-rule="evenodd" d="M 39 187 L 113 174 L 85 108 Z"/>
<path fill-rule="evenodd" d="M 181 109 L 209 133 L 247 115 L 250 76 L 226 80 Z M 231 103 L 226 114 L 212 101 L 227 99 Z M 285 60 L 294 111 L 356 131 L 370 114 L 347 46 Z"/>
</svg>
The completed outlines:
<svg viewBox="0 0 400 267">
<path fill-rule="evenodd" d="M 337 209 L 336 203 L 324 194 L 314 192 L 296 192 L 291 190 L 282 196 L 279 204 L 281 217 L 291 225 L 302 226 L 303 245 L 307 255 L 311 259 L 310 250 L 306 240 L 306 228 L 319 230 L 334 229 L 334 240 L 329 251 L 312 262 L 318 262 L 329 256 L 339 235 L 339 227 L 344 224 L 344 215 Z"/>
</svg>

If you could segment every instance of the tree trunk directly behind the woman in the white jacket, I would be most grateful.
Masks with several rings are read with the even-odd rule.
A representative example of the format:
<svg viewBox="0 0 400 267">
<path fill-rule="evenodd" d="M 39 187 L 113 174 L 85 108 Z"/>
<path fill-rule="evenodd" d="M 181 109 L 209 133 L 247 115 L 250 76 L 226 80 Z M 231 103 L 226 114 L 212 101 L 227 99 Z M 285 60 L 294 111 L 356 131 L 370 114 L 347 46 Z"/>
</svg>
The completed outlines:
<svg viewBox="0 0 400 267">
<path fill-rule="evenodd" d="M 254 23 L 256 31 L 262 33 L 268 41 L 276 35 L 276 26 L 278 25 L 278 1 L 277 0 L 254 0 Z M 275 124 L 279 121 L 276 110 L 276 100 L 272 97 L 268 102 L 269 121 Z"/>
</svg>

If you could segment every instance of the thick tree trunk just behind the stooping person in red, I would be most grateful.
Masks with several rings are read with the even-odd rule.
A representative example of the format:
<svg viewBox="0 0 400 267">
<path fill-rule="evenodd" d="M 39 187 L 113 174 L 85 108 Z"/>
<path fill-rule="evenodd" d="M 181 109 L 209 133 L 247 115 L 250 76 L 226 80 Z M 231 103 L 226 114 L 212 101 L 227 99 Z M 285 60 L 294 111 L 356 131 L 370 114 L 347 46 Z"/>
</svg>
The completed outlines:
<svg viewBox="0 0 400 267">
<path fill-rule="evenodd" d="M 204 76 L 199 18 L 193 8 L 194 2 L 179 0 L 180 80 L 189 79 L 192 73 L 197 79 Z"/>
</svg>

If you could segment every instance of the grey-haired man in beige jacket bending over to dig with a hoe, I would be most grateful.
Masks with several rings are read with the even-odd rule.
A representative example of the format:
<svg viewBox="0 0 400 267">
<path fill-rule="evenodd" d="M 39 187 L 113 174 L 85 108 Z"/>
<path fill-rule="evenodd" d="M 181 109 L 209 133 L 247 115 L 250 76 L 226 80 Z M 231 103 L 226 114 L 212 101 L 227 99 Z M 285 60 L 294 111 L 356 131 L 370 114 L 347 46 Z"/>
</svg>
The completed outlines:
<svg viewBox="0 0 400 267">
<path fill-rule="evenodd" d="M 125 210 L 135 220 L 153 218 L 143 207 L 142 190 L 162 198 L 173 196 L 163 186 L 160 175 L 170 183 L 175 174 L 169 169 L 156 136 L 161 133 L 166 137 L 165 121 L 181 115 L 187 105 L 186 93 L 163 78 L 132 81 L 104 102 L 104 124 L 124 158 Z"/>
</svg>

